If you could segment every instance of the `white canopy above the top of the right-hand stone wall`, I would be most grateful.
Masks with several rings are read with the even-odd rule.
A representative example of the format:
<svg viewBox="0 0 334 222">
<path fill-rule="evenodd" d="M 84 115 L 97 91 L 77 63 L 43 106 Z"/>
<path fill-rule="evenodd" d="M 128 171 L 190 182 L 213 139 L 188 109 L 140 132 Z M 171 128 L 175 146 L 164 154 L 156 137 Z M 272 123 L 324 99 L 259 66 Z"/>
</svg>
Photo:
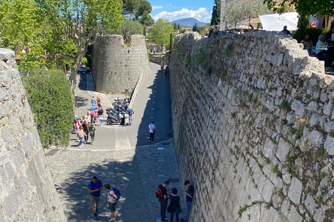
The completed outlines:
<svg viewBox="0 0 334 222">
<path fill-rule="evenodd" d="M 287 30 L 297 30 L 298 13 L 287 12 L 281 15 L 260 15 L 263 30 L 282 31 L 283 26 L 287 26 Z"/>
</svg>

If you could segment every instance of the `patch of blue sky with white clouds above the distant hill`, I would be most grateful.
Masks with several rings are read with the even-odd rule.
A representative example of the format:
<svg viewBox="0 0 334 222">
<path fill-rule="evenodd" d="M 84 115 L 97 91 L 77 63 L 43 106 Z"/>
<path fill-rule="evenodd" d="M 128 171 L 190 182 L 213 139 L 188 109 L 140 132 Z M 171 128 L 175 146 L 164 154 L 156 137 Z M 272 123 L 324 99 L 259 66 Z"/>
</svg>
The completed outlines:
<svg viewBox="0 0 334 222">
<path fill-rule="evenodd" d="M 174 21 L 187 17 L 194 17 L 200 22 L 210 22 L 214 0 L 148 0 L 152 5 L 152 18 Z"/>
</svg>

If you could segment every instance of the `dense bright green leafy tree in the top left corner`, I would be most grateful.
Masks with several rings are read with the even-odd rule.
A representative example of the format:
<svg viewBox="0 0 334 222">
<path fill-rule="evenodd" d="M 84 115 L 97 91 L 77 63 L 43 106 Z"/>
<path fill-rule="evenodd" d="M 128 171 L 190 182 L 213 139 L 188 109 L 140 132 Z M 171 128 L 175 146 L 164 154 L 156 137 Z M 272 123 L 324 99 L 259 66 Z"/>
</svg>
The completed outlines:
<svg viewBox="0 0 334 222">
<path fill-rule="evenodd" d="M 45 65 L 48 33 L 42 11 L 33 0 L 0 1 L 0 47 L 15 51 L 20 66 Z"/>
</svg>

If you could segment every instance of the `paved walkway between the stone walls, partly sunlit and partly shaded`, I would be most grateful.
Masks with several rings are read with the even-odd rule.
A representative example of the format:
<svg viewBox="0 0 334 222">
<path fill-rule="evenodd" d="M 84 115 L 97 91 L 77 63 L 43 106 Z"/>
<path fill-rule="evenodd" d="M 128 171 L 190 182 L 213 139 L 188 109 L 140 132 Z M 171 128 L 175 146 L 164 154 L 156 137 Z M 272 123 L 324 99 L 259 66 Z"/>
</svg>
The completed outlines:
<svg viewBox="0 0 334 222">
<path fill-rule="evenodd" d="M 54 182 L 62 187 L 62 193 L 58 195 L 67 221 L 93 221 L 87 190 L 93 176 L 120 189 L 118 221 L 155 222 L 159 218 L 159 201 L 155 197 L 157 186 L 164 180 L 177 179 L 178 171 L 173 139 L 170 139 L 169 78 L 158 71 L 159 65 L 151 63 L 150 68 L 151 74 L 143 77 L 138 89 L 132 126 L 96 126 L 94 146 L 84 144 L 79 149 L 75 135 L 72 135 L 67 149 L 47 155 Z M 93 86 L 88 78 L 89 88 Z M 112 102 L 116 96 L 87 90 L 86 76 L 81 76 L 75 110 L 80 116 L 90 107 L 91 95 L 99 96 L 104 108 L 109 107 L 107 99 Z M 147 128 L 152 120 L 157 126 L 154 144 L 148 142 Z M 170 182 L 169 188 L 172 187 L 176 187 L 182 196 L 185 187 L 181 187 L 180 182 Z M 97 221 L 110 219 L 104 191 L 99 210 L 102 213 Z"/>
</svg>

